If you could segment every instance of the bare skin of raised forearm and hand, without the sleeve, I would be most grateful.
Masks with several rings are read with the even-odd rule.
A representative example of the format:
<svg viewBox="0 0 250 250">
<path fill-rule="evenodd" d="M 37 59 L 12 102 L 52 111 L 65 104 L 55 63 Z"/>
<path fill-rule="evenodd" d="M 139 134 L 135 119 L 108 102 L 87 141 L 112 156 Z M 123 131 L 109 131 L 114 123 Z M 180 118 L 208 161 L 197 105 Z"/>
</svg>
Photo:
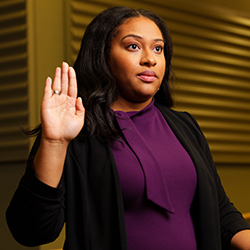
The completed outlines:
<svg viewBox="0 0 250 250">
<path fill-rule="evenodd" d="M 60 91 L 54 94 L 53 90 Z M 56 69 L 53 84 L 47 78 L 41 106 L 42 136 L 33 166 L 38 179 L 49 186 L 60 182 L 69 142 L 83 127 L 84 108 L 77 98 L 76 75 L 66 63 Z"/>
</svg>

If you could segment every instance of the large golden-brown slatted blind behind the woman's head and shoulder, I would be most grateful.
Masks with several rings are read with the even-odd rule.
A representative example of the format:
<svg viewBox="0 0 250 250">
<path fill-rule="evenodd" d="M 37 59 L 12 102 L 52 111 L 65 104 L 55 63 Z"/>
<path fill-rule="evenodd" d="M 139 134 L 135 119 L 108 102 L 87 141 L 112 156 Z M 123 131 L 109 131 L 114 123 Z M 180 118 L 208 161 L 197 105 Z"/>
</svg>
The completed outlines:
<svg viewBox="0 0 250 250">
<path fill-rule="evenodd" d="M 250 163 L 250 18 L 186 1 L 70 1 L 69 56 L 73 63 L 88 23 L 102 10 L 125 5 L 159 14 L 170 28 L 175 109 L 190 112 L 215 162 Z"/>
</svg>

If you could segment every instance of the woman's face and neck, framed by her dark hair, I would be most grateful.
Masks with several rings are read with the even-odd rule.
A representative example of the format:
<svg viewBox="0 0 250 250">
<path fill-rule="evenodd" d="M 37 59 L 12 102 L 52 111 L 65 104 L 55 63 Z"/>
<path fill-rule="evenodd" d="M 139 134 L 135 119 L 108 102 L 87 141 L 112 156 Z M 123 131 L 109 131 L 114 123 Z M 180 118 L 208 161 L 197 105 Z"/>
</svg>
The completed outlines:
<svg viewBox="0 0 250 250">
<path fill-rule="evenodd" d="M 109 57 L 120 92 L 114 110 L 140 110 L 152 101 L 165 74 L 163 50 L 161 31 L 152 20 L 132 18 L 119 27 Z"/>
</svg>

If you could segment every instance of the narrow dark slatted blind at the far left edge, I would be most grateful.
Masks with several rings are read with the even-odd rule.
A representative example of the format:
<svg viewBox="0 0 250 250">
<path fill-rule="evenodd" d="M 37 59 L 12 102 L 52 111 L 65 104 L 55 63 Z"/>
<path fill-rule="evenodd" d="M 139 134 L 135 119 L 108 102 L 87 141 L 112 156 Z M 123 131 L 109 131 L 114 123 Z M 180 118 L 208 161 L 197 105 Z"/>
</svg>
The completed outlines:
<svg viewBox="0 0 250 250">
<path fill-rule="evenodd" d="M 27 158 L 28 123 L 26 1 L 0 2 L 0 162 Z"/>
</svg>

